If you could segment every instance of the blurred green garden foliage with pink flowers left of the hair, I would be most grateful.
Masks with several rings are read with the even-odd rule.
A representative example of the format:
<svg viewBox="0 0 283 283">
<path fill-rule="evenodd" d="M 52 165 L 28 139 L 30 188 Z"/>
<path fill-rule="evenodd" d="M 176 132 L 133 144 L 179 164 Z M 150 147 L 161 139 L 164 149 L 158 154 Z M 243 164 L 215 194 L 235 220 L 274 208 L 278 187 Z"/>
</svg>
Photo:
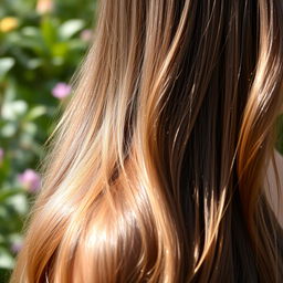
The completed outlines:
<svg viewBox="0 0 283 283">
<path fill-rule="evenodd" d="M 95 0 L 2 0 L 0 4 L 0 283 L 21 249 L 40 189 L 36 171 L 70 78 L 95 24 Z"/>
</svg>

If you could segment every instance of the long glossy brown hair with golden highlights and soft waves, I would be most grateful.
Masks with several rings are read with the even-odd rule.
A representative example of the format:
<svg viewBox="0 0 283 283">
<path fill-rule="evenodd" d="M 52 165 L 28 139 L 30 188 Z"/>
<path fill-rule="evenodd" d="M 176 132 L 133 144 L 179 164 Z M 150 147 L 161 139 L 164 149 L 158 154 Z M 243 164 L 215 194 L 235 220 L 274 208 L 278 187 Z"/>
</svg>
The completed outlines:
<svg viewBox="0 0 283 283">
<path fill-rule="evenodd" d="M 102 0 L 11 282 L 280 282 L 282 78 L 281 0 Z"/>
</svg>

